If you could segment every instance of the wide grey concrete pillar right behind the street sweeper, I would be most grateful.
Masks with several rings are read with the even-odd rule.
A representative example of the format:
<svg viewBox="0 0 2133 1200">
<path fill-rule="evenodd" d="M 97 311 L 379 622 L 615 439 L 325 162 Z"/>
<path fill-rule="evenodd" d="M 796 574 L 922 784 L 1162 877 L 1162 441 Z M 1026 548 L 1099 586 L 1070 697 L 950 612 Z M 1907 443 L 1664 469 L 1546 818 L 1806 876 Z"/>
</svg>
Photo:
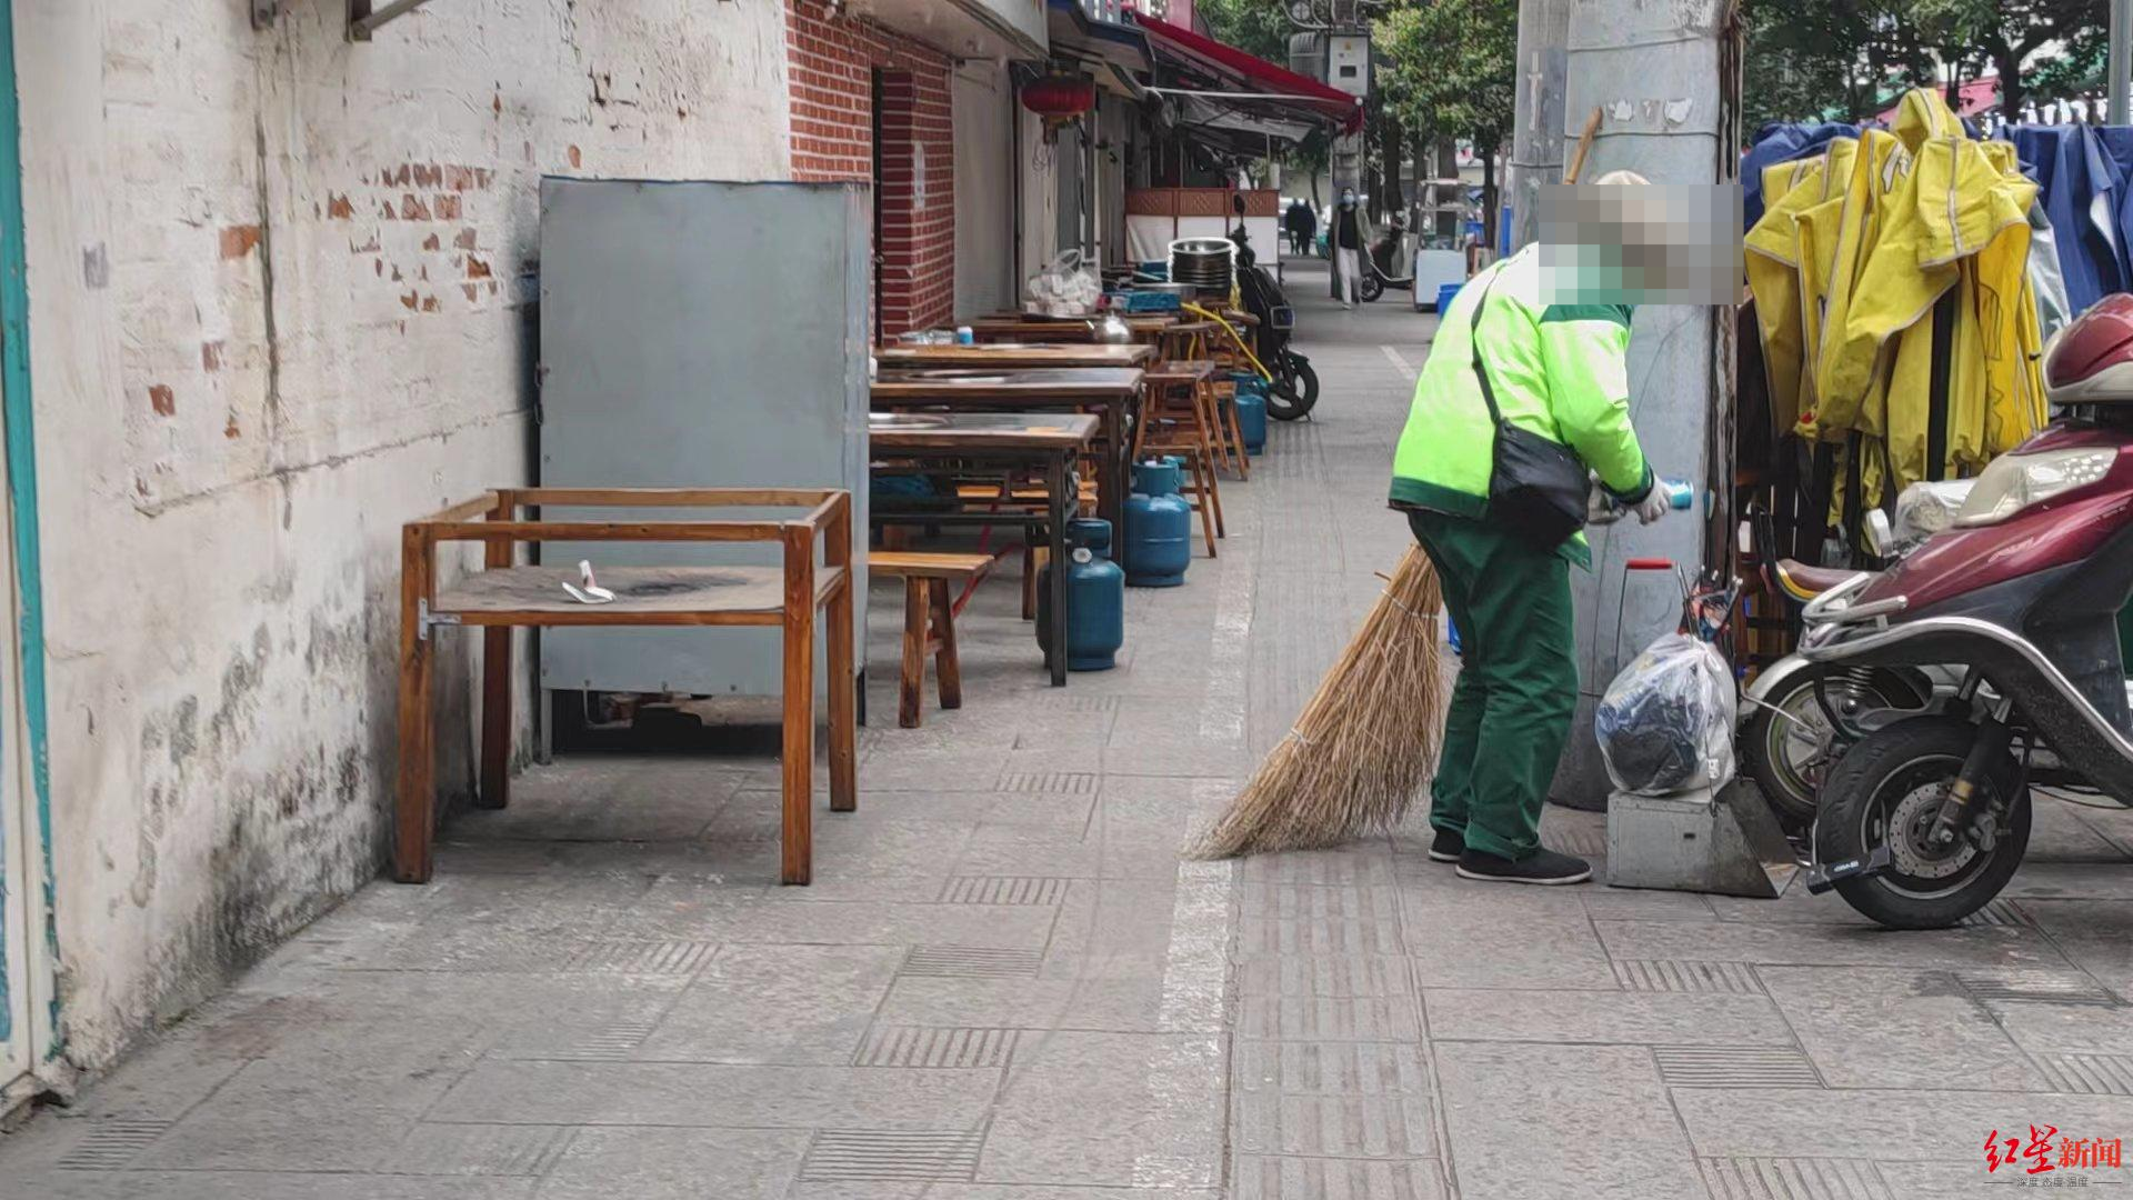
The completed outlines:
<svg viewBox="0 0 2133 1200">
<path fill-rule="evenodd" d="M 1600 107 L 1600 132 L 1583 179 L 1630 169 L 1653 184 L 1713 184 L 1719 160 L 1734 154 L 1719 113 L 1719 19 L 1726 0 L 1642 4 L 1640 0 L 1574 0 L 1563 73 L 1566 147 Z M 1706 472 L 1706 429 L 1717 399 L 1715 352 L 1719 310 L 1642 305 L 1630 335 L 1630 406 L 1638 438 L 1664 478 L 1698 485 Z M 1570 572 L 1578 611 L 1578 677 L 1583 681 L 1570 749 L 1551 796 L 1572 807 L 1606 803 L 1608 779 L 1593 741 L 1593 709 L 1625 662 L 1674 628 L 1681 587 L 1666 572 L 1625 572 L 1630 557 L 1668 557 L 1694 574 L 1702 568 L 1706 504 L 1657 525 L 1627 521 L 1591 530 L 1593 570 Z"/>
</svg>

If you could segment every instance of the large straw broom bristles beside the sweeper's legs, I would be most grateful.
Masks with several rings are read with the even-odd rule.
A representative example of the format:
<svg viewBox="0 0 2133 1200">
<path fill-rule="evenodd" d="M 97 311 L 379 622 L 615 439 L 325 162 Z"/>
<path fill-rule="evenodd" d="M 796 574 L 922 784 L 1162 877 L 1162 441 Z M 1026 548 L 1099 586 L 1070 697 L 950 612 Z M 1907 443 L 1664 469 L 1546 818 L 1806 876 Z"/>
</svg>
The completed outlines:
<svg viewBox="0 0 2133 1200">
<path fill-rule="evenodd" d="M 1408 547 L 1303 715 L 1188 854 L 1312 850 L 1397 824 L 1444 737 L 1442 604 L 1436 570 Z"/>
</svg>

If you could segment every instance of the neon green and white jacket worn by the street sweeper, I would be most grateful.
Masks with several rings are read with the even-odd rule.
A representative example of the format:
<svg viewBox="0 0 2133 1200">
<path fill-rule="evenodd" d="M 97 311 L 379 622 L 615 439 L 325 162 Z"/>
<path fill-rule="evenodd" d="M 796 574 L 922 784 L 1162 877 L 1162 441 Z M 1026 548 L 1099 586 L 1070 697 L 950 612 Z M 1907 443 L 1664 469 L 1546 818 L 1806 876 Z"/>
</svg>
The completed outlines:
<svg viewBox="0 0 2133 1200">
<path fill-rule="evenodd" d="M 1630 307 L 1540 303 L 1540 252 L 1527 246 L 1468 280 L 1442 314 L 1393 453 L 1393 508 L 1489 521 L 1495 427 L 1472 354 L 1482 295 L 1480 361 L 1504 419 L 1570 446 L 1619 500 L 1640 502 L 1653 476 L 1630 427 Z M 1589 564 L 1585 534 L 1563 555 Z"/>
</svg>

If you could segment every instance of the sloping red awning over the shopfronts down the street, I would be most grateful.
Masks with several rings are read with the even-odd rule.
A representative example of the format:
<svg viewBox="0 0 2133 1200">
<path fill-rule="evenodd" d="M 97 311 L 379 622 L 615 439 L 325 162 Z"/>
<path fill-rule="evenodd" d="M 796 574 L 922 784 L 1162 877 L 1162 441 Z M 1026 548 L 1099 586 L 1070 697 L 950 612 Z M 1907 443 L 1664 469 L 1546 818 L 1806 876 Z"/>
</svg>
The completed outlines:
<svg viewBox="0 0 2133 1200">
<path fill-rule="evenodd" d="M 1348 92 L 1145 13 L 1135 13 L 1133 23 L 1148 32 L 1156 60 L 1180 77 L 1177 85 L 1152 92 L 1180 100 L 1180 115 L 1190 124 L 1231 132 L 1256 128 L 1284 141 L 1301 137 L 1308 124 L 1337 132 L 1363 128 L 1363 100 Z"/>
</svg>

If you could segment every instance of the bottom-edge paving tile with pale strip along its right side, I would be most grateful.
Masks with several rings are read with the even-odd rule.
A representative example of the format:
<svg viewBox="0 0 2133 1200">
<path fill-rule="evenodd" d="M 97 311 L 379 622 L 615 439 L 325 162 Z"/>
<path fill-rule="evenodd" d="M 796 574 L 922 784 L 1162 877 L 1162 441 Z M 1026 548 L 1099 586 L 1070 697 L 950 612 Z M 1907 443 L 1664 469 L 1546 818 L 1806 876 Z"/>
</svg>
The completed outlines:
<svg viewBox="0 0 2133 1200">
<path fill-rule="evenodd" d="M 1052 1033 L 1015 1048 L 979 1159 L 985 1183 L 1212 1187 L 1222 1040 Z"/>
</svg>

